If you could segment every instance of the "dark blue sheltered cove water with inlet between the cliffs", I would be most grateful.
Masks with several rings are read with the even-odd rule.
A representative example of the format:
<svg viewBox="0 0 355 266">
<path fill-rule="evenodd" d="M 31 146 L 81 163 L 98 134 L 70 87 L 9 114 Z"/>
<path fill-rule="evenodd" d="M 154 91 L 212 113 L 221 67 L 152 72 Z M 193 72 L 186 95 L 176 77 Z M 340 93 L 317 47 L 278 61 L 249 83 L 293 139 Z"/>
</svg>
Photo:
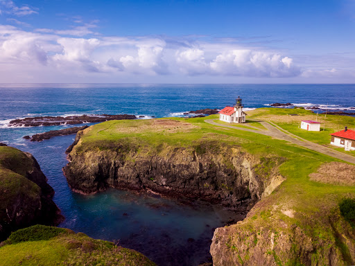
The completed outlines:
<svg viewBox="0 0 355 266">
<path fill-rule="evenodd" d="M 25 131 L 32 133 L 37 128 L 18 130 L 19 139 Z M 199 265 L 211 261 L 209 246 L 214 229 L 245 217 L 245 210 L 230 211 L 206 202 L 123 190 L 109 189 L 94 195 L 73 193 L 62 167 L 67 164 L 65 150 L 74 137 L 55 136 L 39 143 L 21 141 L 26 145 L 17 145 L 35 156 L 54 188 L 53 200 L 65 217 L 59 227 L 119 242 L 148 256 L 157 265 Z"/>
</svg>

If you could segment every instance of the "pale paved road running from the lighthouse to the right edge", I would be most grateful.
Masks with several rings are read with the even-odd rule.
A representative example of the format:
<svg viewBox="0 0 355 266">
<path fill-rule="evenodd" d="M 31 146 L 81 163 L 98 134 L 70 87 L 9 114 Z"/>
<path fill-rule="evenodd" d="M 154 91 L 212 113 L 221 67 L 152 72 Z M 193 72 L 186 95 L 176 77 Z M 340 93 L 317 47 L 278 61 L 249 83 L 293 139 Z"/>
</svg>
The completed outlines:
<svg viewBox="0 0 355 266">
<path fill-rule="evenodd" d="M 281 127 L 279 127 L 275 124 L 271 125 L 270 123 L 268 123 L 266 121 L 259 121 L 259 123 L 261 123 L 261 125 L 263 125 L 266 128 L 266 130 L 252 130 L 251 128 L 249 129 L 249 128 L 245 128 L 245 127 L 236 127 L 233 125 L 224 125 L 224 124 L 214 122 L 213 119 L 207 119 L 207 120 L 205 120 L 205 122 L 209 123 L 211 125 L 218 125 L 218 127 L 228 127 L 228 128 L 233 128 L 234 130 L 243 130 L 243 131 L 253 132 L 253 133 L 257 133 L 257 134 L 263 134 L 266 136 L 271 136 L 272 138 L 275 138 L 275 139 L 282 139 L 284 141 L 288 141 L 288 142 L 300 145 L 300 146 L 307 148 L 309 150 L 315 150 L 316 152 L 320 152 L 322 154 L 329 155 L 329 156 L 334 157 L 336 159 L 340 159 L 340 160 L 355 164 L 355 157 L 352 155 L 338 152 L 337 150 L 332 150 L 330 148 L 324 147 L 324 146 L 319 145 L 317 143 L 307 141 L 306 139 L 302 139 L 299 136 L 295 136 L 294 134 L 291 134 L 290 132 L 287 132 L 286 130 L 279 130 Z"/>
</svg>

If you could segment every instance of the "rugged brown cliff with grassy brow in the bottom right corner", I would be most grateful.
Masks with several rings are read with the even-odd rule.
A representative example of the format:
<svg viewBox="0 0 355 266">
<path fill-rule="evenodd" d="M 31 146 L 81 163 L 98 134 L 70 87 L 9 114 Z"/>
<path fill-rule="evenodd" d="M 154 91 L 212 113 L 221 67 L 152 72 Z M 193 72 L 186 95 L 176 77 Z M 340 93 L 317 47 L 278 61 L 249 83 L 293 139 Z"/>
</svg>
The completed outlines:
<svg viewBox="0 0 355 266">
<path fill-rule="evenodd" d="M 214 265 L 354 265 L 355 229 L 336 206 L 324 201 L 319 212 L 300 213 L 282 209 L 281 194 L 278 189 L 245 220 L 214 231 Z"/>
</svg>

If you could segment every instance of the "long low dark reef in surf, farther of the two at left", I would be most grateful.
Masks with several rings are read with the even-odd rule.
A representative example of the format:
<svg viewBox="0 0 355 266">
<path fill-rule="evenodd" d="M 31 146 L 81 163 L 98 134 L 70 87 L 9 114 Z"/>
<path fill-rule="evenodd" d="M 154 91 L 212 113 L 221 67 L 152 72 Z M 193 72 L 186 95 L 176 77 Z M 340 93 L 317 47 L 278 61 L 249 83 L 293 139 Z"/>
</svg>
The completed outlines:
<svg viewBox="0 0 355 266">
<path fill-rule="evenodd" d="M 101 114 L 83 116 L 39 116 L 15 119 L 8 124 L 12 127 L 38 127 L 42 125 L 76 125 L 81 123 L 99 123 L 109 120 L 136 119 L 132 114 Z"/>
</svg>

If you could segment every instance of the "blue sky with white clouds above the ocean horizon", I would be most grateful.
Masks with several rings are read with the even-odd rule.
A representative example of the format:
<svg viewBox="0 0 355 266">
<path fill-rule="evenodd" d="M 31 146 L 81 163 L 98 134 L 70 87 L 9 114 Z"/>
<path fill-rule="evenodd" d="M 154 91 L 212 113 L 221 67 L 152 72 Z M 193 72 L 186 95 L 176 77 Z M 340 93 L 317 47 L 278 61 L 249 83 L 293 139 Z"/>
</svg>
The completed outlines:
<svg viewBox="0 0 355 266">
<path fill-rule="evenodd" d="M 355 83 L 355 0 L 0 0 L 0 83 Z"/>
</svg>

